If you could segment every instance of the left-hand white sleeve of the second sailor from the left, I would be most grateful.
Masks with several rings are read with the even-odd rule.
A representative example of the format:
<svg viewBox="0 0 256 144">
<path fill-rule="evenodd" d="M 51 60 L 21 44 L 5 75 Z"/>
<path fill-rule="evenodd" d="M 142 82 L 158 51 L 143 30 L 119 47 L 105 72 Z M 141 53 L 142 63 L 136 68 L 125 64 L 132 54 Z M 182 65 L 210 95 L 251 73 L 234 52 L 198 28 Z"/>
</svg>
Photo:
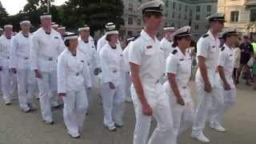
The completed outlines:
<svg viewBox="0 0 256 144">
<path fill-rule="evenodd" d="M 18 42 L 16 41 L 16 38 L 13 38 L 11 40 L 10 45 L 10 68 L 17 68 L 17 51 L 18 49 Z"/>
</svg>

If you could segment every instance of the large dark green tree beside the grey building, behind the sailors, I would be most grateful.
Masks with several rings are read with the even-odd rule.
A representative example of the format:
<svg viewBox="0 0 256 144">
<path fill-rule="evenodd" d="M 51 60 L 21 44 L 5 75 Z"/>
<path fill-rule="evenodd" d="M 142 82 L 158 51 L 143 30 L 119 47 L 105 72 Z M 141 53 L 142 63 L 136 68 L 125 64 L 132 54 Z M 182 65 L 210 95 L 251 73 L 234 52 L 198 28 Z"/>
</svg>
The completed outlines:
<svg viewBox="0 0 256 144">
<path fill-rule="evenodd" d="M 62 23 L 70 28 L 89 24 L 90 30 L 103 30 L 107 22 L 123 25 L 122 0 L 69 0 L 60 7 Z"/>
</svg>

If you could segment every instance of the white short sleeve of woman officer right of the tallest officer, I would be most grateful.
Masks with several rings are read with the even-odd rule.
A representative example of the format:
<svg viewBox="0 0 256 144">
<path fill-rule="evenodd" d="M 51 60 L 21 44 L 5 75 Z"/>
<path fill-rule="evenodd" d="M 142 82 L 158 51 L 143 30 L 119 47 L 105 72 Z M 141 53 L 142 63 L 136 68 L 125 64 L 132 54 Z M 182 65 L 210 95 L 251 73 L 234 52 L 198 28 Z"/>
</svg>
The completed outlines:
<svg viewBox="0 0 256 144">
<path fill-rule="evenodd" d="M 166 73 L 178 73 L 178 57 L 174 54 L 170 54 L 169 57 L 166 58 Z"/>
</svg>

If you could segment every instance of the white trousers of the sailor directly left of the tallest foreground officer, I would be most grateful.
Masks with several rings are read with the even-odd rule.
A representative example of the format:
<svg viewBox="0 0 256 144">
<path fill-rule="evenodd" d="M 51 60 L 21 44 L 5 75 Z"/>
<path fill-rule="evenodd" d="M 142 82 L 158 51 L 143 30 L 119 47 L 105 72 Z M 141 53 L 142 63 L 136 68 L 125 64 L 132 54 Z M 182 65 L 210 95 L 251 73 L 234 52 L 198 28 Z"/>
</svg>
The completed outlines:
<svg viewBox="0 0 256 144">
<path fill-rule="evenodd" d="M 104 113 L 104 125 L 122 126 L 122 117 L 125 110 L 125 90 L 123 84 L 110 89 L 109 83 L 102 83 L 102 105 Z"/>
</svg>

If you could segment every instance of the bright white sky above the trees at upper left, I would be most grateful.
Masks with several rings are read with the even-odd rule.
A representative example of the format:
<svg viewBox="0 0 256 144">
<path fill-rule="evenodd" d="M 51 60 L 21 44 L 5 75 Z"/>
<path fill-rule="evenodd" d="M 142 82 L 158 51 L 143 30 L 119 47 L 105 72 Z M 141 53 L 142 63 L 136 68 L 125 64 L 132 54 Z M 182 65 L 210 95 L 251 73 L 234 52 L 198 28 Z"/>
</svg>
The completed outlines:
<svg viewBox="0 0 256 144">
<path fill-rule="evenodd" d="M 54 5 L 62 5 L 67 0 L 54 0 Z M 8 14 L 17 14 L 20 10 L 23 10 L 23 6 L 26 5 L 26 0 L 0 0 L 2 6 L 6 8 Z"/>
</svg>

